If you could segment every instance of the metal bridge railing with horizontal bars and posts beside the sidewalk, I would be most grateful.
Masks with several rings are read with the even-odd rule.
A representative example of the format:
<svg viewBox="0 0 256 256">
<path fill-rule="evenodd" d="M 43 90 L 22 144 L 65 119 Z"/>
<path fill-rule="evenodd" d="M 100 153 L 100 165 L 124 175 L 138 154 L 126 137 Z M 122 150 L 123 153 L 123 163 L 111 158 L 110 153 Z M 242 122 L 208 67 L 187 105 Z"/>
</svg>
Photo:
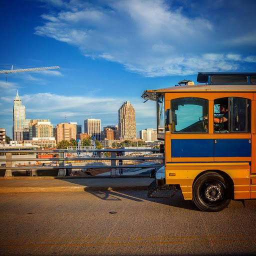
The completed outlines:
<svg viewBox="0 0 256 256">
<path fill-rule="evenodd" d="M 10 177 L 12 175 L 12 170 L 14 171 L 24 171 L 24 170 L 54 170 L 57 169 L 57 176 L 65 176 L 66 170 L 68 169 L 95 169 L 95 168 L 108 168 L 110 169 L 110 175 L 116 175 L 116 169 L 125 169 L 125 168 L 159 168 L 162 164 L 124 164 L 118 165 L 116 164 L 116 160 L 163 160 L 163 155 L 161 156 L 116 156 L 118 152 L 155 152 L 159 153 L 159 149 L 157 148 L 146 148 L 146 149 L 46 149 L 46 150 L 0 150 L 0 154 L 4 154 L 6 158 L 0 158 L 0 162 L 6 162 L 5 165 L 1 164 L 0 170 L 5 170 L 4 176 Z M 100 156 L 92 156 L 92 157 L 65 157 L 66 153 L 82 153 L 82 152 L 110 152 L 110 157 L 100 157 Z M 58 154 L 58 157 L 51 158 L 31 158 L 25 157 L 27 153 L 55 153 Z M 16 154 L 24 154 L 22 158 L 15 158 Z M 58 166 L 38 166 L 38 165 L 22 165 L 22 166 L 12 166 L 13 161 L 56 161 L 58 162 Z M 102 161 L 102 160 L 110 160 L 110 165 L 66 165 L 66 161 L 84 161 L 85 163 L 88 161 Z M 4 166 L 2 166 L 4 165 Z"/>
</svg>

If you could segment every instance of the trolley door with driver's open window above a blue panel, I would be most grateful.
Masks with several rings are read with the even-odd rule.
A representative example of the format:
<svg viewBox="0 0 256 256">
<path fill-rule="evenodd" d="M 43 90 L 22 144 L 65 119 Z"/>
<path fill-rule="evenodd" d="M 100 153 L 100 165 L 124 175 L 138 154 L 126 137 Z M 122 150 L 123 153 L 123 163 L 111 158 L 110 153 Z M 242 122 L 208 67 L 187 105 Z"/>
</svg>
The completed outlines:
<svg viewBox="0 0 256 256">
<path fill-rule="evenodd" d="M 251 161 L 250 100 L 214 100 L 214 161 Z"/>
</svg>

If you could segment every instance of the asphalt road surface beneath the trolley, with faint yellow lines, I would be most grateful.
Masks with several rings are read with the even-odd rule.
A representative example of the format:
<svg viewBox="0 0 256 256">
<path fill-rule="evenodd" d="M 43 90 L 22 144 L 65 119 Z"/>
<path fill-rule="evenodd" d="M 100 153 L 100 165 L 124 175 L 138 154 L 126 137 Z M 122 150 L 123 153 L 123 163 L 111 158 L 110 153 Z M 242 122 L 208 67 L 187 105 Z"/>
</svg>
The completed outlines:
<svg viewBox="0 0 256 256">
<path fill-rule="evenodd" d="M 0 255 L 256 255 L 256 200 L 201 212 L 178 192 L 0 194 Z"/>
</svg>

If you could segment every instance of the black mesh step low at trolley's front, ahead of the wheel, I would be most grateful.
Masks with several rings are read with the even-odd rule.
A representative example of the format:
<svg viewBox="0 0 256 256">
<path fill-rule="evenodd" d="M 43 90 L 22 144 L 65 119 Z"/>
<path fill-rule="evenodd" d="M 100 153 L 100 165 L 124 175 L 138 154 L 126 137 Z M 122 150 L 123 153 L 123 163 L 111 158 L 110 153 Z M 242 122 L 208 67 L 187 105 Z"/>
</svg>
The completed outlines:
<svg viewBox="0 0 256 256">
<path fill-rule="evenodd" d="M 171 198 L 177 191 L 176 186 L 157 186 L 155 179 L 147 188 L 147 197 L 149 198 Z"/>
</svg>

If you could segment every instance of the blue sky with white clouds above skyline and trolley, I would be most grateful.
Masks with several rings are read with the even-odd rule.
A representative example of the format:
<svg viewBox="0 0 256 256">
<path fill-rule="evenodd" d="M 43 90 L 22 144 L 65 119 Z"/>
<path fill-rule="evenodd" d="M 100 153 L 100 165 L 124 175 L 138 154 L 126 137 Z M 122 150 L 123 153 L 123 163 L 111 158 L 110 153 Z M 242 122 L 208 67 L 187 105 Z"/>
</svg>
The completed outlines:
<svg viewBox="0 0 256 256">
<path fill-rule="evenodd" d="M 145 89 L 202 71 L 255 71 L 255 0 L 8 0 L 1 3 L 0 127 L 12 136 L 16 89 L 26 117 L 117 124 L 126 100 L 154 128 Z"/>
</svg>

